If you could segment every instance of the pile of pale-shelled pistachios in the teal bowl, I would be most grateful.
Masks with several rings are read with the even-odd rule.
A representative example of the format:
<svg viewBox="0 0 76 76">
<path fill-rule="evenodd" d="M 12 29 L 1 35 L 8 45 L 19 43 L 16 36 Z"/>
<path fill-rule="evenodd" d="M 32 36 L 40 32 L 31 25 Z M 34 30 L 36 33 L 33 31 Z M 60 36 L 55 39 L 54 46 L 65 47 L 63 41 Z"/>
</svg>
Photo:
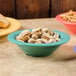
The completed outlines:
<svg viewBox="0 0 76 76">
<path fill-rule="evenodd" d="M 53 43 L 60 41 L 59 34 L 48 28 L 36 28 L 22 31 L 16 39 L 27 43 Z"/>
</svg>

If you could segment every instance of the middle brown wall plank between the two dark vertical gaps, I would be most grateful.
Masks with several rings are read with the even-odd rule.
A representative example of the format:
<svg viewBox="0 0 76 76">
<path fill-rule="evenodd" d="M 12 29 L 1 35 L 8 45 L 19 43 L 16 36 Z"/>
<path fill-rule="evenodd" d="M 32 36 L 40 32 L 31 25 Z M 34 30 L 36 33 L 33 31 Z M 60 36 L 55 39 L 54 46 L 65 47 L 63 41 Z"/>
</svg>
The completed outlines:
<svg viewBox="0 0 76 76">
<path fill-rule="evenodd" d="M 17 18 L 49 17 L 50 0 L 16 0 Z"/>
</svg>

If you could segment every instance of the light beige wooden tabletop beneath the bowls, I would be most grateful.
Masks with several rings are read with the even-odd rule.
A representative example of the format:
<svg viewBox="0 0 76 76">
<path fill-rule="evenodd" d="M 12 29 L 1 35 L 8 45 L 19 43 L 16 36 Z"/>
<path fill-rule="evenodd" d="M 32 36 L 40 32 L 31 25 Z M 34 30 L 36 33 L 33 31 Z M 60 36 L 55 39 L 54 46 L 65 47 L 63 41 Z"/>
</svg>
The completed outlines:
<svg viewBox="0 0 76 76">
<path fill-rule="evenodd" d="M 22 29 L 47 27 L 70 34 L 55 19 L 20 20 Z M 9 41 L 0 43 L 0 76 L 76 76 L 76 36 L 62 45 L 51 56 L 31 57 L 25 55 L 17 45 Z M 65 60 L 69 59 L 69 60 Z"/>
</svg>

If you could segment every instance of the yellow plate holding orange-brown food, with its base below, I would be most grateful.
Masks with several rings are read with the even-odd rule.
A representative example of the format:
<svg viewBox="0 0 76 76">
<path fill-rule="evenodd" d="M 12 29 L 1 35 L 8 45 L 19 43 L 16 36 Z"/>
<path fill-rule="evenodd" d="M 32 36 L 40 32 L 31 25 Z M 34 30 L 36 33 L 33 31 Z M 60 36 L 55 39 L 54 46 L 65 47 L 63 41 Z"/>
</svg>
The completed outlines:
<svg viewBox="0 0 76 76">
<path fill-rule="evenodd" d="M 21 24 L 17 19 L 0 14 L 0 43 L 7 41 L 7 35 L 19 30 L 20 27 Z"/>
</svg>

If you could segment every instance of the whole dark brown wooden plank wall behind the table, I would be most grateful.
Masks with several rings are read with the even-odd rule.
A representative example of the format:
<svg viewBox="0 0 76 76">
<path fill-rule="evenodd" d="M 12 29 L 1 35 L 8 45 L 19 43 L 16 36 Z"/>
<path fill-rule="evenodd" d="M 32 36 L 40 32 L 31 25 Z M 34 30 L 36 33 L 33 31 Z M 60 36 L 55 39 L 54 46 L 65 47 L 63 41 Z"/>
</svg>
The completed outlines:
<svg viewBox="0 0 76 76">
<path fill-rule="evenodd" d="M 18 19 L 49 18 L 76 10 L 76 0 L 0 0 L 0 13 Z"/>
</svg>

